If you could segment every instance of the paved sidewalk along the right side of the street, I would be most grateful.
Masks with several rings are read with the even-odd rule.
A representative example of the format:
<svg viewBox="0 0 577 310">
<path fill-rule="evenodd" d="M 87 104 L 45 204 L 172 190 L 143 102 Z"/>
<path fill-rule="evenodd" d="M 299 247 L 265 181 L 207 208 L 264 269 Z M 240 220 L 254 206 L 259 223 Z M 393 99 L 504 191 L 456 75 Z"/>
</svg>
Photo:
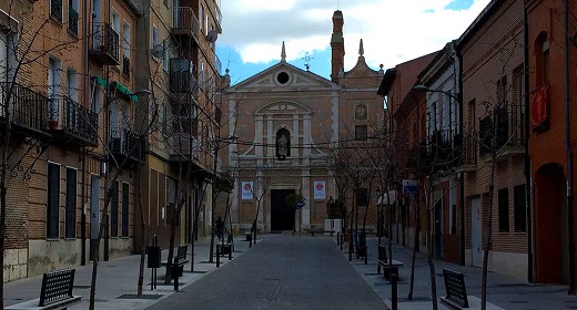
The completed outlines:
<svg viewBox="0 0 577 310">
<path fill-rule="evenodd" d="M 387 244 L 386 239 L 382 244 Z M 368 261 L 356 259 L 353 254 L 351 265 L 365 279 L 368 286 L 391 307 L 391 285 L 383 275 L 376 273 L 377 267 L 377 238 L 368 237 Z M 348 259 L 348 249 L 343 248 L 343 255 Z M 411 256 L 408 248 L 393 245 L 393 259 L 403 262 L 398 268 L 398 309 L 431 309 L 431 276 L 427 259 L 417 254 L 415 262 L 415 286 L 413 301 L 407 300 L 411 277 Z M 443 279 L 443 268 L 448 268 L 465 275 L 467 294 L 480 301 L 482 269 L 475 267 L 464 267 L 441 260 L 434 260 L 435 281 L 437 285 L 437 298 L 445 297 L 445 283 Z M 502 275 L 489 272 L 487 276 L 487 301 L 494 306 L 493 309 L 576 309 L 577 296 L 567 294 L 567 287 L 553 285 L 529 283 L 508 278 Z M 469 303 L 470 303 L 469 298 Z M 438 302 L 438 309 L 448 309 Z M 490 304 L 487 304 L 487 309 Z"/>
</svg>

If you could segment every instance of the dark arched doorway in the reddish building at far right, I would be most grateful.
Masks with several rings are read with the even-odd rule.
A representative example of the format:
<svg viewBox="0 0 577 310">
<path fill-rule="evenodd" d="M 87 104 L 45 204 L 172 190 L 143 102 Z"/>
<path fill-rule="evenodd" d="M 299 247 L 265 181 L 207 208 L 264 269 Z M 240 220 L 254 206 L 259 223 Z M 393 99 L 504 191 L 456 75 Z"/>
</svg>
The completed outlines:
<svg viewBox="0 0 577 310">
<path fill-rule="evenodd" d="M 535 262 L 540 283 L 568 283 L 567 186 L 563 166 L 549 163 L 535 174 Z"/>
</svg>

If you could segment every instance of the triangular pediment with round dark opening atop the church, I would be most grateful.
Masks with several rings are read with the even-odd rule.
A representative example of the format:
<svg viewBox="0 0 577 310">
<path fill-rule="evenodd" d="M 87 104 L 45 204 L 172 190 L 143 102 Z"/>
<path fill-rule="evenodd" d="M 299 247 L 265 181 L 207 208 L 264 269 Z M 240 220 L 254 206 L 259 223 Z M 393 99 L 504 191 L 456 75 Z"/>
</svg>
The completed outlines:
<svg viewBox="0 0 577 310">
<path fill-rule="evenodd" d="M 340 87 L 310 71 L 280 62 L 231 87 L 232 91 L 285 91 Z"/>
</svg>

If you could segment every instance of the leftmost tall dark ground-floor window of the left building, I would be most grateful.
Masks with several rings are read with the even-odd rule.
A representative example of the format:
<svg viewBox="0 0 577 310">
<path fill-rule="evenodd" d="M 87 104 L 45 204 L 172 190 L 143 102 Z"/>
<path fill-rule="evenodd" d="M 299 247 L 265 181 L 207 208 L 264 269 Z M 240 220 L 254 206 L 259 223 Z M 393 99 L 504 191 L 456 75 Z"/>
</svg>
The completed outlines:
<svg viewBox="0 0 577 310">
<path fill-rule="evenodd" d="M 60 165 L 48 163 L 47 238 L 59 237 Z"/>
</svg>

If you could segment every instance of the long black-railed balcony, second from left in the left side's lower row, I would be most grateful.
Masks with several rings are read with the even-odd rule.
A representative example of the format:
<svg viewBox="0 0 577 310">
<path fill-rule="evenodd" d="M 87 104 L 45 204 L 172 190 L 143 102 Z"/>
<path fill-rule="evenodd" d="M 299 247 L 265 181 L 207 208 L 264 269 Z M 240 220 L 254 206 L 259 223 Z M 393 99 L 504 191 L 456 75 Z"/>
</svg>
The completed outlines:
<svg viewBox="0 0 577 310">
<path fill-rule="evenodd" d="M 98 146 L 98 114 L 68 96 L 50 101 L 48 124 L 57 143 Z"/>
</svg>

